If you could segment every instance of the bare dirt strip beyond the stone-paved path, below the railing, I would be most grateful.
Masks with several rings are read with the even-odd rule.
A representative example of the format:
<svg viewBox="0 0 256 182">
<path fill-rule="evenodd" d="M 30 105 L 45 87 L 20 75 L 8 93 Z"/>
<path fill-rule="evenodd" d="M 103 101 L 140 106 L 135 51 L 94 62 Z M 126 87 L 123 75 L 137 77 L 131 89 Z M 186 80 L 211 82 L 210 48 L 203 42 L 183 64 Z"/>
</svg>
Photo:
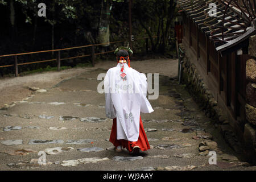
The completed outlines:
<svg viewBox="0 0 256 182">
<path fill-rule="evenodd" d="M 159 64 L 161 64 L 161 67 L 159 67 Z M 98 68 L 109 69 L 115 65 L 115 61 L 99 61 L 94 68 L 72 68 L 60 72 L 34 73 L 20 77 L 2 78 L 0 79 L 0 108 L 4 107 L 5 104 L 11 104 L 30 96 L 31 90 L 28 89 L 28 86 L 47 89 L 61 80 L 71 78 L 85 71 Z M 159 73 L 169 77 L 177 75 L 177 60 L 172 59 L 131 61 L 131 67 L 143 73 Z"/>
</svg>

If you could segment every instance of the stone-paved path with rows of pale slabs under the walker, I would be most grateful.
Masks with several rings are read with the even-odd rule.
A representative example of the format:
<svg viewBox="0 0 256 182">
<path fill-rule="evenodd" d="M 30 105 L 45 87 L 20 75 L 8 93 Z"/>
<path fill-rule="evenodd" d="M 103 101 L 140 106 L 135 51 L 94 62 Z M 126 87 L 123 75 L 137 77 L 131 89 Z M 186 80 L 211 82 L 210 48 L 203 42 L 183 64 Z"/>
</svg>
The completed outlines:
<svg viewBox="0 0 256 182">
<path fill-rule="evenodd" d="M 0 110 L 1 170 L 255 170 L 241 162 L 176 78 L 159 76 L 154 112 L 141 114 L 151 149 L 115 152 L 91 69 Z M 210 165 L 216 151 L 217 165 Z M 46 163 L 43 156 L 46 156 Z"/>
</svg>

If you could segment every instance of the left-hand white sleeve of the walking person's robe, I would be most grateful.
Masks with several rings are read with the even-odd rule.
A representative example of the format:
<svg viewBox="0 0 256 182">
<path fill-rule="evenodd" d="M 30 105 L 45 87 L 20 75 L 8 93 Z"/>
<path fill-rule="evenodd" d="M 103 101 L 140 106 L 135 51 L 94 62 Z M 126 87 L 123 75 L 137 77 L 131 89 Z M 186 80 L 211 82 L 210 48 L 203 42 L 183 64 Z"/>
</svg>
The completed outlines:
<svg viewBox="0 0 256 182">
<path fill-rule="evenodd" d="M 106 117 L 108 118 L 116 118 L 116 111 L 112 102 L 111 93 L 110 93 L 110 73 L 109 71 L 106 73 L 105 79 L 104 79 L 104 92 L 105 92 L 105 112 Z"/>
</svg>

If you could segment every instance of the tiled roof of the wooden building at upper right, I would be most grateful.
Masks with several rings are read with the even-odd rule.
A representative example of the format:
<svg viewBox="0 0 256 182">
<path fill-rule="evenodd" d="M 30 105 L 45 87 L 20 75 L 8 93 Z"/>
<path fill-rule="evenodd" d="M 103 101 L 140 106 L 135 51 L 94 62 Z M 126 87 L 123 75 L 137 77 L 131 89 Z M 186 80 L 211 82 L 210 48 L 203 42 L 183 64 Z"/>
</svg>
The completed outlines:
<svg viewBox="0 0 256 182">
<path fill-rule="evenodd" d="M 180 11 L 224 51 L 256 33 L 255 0 L 178 0 Z"/>
</svg>

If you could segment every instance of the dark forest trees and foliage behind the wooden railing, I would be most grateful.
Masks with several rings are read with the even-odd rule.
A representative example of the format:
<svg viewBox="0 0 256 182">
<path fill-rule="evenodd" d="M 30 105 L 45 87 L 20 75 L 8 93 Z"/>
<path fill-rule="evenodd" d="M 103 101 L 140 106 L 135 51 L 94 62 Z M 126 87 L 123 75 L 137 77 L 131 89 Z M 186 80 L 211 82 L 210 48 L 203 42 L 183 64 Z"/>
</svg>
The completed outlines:
<svg viewBox="0 0 256 182">
<path fill-rule="evenodd" d="M 13 12 L 13 16 L 15 16 L 13 24 L 10 20 L 13 18 L 10 16 L 11 2 L 13 2 L 15 11 Z M 38 4 L 41 2 L 46 3 L 46 17 L 38 16 Z M 105 4 L 108 4 L 106 7 L 110 7 L 110 13 L 102 13 L 102 9 L 106 11 L 105 5 L 102 6 L 104 2 L 108 2 Z M 102 14 L 104 14 L 103 16 L 109 15 L 110 42 L 116 40 L 123 40 L 124 42 L 110 44 L 109 47 L 103 48 L 96 46 L 96 53 L 111 51 L 119 46 L 126 47 L 127 40 L 129 40 L 128 0 L 0 0 L 0 8 L 3 13 L 7 13 L 6 18 L 2 19 L 3 27 L 6 28 L 1 30 L 1 34 L 3 33 L 1 36 L 2 43 L 0 43 L 1 55 L 97 43 Z M 142 55 L 146 51 L 145 39 L 137 39 L 143 37 L 150 38 L 149 46 L 155 53 L 173 54 L 172 49 L 175 42 L 173 19 L 176 13 L 175 0 L 133 0 L 132 34 L 135 41 L 132 46 L 134 54 L 140 53 Z M 155 35 L 158 38 L 152 38 Z M 64 57 L 81 55 L 79 51 L 85 55 L 90 54 L 90 48 L 74 49 L 63 52 L 67 54 Z M 110 53 L 108 56 L 114 57 L 114 54 Z M 109 59 L 108 56 L 107 54 L 96 56 L 96 59 Z M 35 54 L 35 57 L 24 56 L 22 61 L 47 60 L 54 57 L 56 58 L 56 55 Z M 13 64 L 12 59 L 2 59 L 1 61 L 5 64 Z M 75 66 L 79 61 L 74 59 L 70 63 L 67 65 Z M 32 64 L 27 67 L 39 68 L 39 66 L 34 67 Z M 47 69 L 50 70 L 51 68 L 48 67 Z M 22 69 L 20 70 L 22 71 Z M 10 71 L 12 70 L 10 69 Z M 38 71 L 42 70 L 38 69 Z"/>
</svg>

